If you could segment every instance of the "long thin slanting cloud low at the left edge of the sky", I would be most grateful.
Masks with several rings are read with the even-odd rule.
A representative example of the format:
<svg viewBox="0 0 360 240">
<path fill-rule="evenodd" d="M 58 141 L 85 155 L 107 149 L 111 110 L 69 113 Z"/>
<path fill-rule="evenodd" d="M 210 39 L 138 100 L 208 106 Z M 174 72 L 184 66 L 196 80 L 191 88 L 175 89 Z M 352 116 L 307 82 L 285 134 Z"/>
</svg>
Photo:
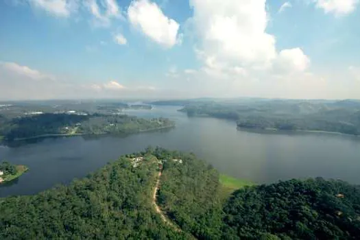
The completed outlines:
<svg viewBox="0 0 360 240">
<path fill-rule="evenodd" d="M 7 70 L 10 74 L 29 77 L 32 80 L 55 80 L 55 77 L 52 75 L 40 73 L 38 70 L 30 69 L 27 66 L 21 66 L 16 62 L 0 62 L 0 67 Z"/>
</svg>

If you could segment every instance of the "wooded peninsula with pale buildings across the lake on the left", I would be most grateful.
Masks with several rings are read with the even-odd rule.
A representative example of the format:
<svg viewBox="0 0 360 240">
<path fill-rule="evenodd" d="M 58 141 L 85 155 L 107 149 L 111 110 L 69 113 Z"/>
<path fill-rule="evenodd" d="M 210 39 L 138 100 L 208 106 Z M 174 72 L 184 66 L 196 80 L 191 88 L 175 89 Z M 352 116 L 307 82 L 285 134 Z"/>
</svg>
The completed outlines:
<svg viewBox="0 0 360 240">
<path fill-rule="evenodd" d="M 175 125 L 169 119 L 139 119 L 127 115 L 74 115 L 44 113 L 12 119 L 0 118 L 0 136 L 5 141 L 46 135 L 121 134 L 143 132 Z"/>
</svg>

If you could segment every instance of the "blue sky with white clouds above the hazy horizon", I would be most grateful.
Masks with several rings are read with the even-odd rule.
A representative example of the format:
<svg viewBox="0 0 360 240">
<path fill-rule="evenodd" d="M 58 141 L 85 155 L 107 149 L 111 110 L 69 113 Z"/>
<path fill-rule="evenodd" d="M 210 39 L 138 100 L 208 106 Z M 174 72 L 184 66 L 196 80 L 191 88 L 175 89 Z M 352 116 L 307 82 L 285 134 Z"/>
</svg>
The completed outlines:
<svg viewBox="0 0 360 240">
<path fill-rule="evenodd" d="M 360 99 L 360 0 L 1 0 L 0 99 Z"/>
</svg>

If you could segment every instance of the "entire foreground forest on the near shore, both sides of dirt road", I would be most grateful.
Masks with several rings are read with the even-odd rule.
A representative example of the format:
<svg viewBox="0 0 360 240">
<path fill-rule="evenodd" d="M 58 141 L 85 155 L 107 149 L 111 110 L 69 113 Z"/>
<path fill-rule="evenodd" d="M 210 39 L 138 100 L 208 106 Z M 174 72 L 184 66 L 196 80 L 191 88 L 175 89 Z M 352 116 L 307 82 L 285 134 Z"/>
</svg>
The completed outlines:
<svg viewBox="0 0 360 240">
<path fill-rule="evenodd" d="M 141 164 L 134 165 L 139 156 Z M 156 202 L 171 224 L 153 205 L 159 171 Z M 359 186 L 322 178 L 287 180 L 242 187 L 225 200 L 221 188 L 217 170 L 195 155 L 148 147 L 67 186 L 1 198 L 0 239 L 360 236 Z"/>
</svg>

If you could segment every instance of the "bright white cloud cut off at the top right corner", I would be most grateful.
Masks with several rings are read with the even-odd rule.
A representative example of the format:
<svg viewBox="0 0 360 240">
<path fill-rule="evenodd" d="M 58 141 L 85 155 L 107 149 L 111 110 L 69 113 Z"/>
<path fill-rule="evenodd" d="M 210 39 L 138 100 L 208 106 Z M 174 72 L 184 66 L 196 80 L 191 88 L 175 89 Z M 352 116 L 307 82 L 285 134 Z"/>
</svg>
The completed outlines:
<svg viewBox="0 0 360 240">
<path fill-rule="evenodd" d="M 313 0 L 317 8 L 322 8 L 326 13 L 333 13 L 337 16 L 353 12 L 359 0 Z"/>
</svg>

